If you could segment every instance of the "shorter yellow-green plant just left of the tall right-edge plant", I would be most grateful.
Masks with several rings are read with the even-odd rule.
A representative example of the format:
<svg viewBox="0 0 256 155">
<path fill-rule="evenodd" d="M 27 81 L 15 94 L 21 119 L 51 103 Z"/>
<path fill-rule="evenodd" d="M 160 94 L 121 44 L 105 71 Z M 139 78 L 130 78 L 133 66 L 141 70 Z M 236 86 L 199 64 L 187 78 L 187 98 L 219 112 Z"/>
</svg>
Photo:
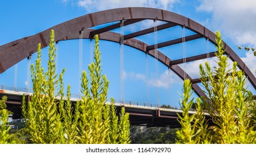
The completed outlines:
<svg viewBox="0 0 256 155">
<path fill-rule="evenodd" d="M 191 114 L 189 110 L 193 106 L 193 99 L 190 100 L 192 95 L 192 84 L 190 80 L 184 80 L 183 85 L 183 99 L 180 101 L 182 116 L 180 117 L 181 129 L 176 132 L 177 142 L 186 144 L 196 143 L 209 143 L 207 125 L 204 125 L 204 116 L 201 106 L 201 101 L 197 100 L 197 113 Z"/>
</svg>

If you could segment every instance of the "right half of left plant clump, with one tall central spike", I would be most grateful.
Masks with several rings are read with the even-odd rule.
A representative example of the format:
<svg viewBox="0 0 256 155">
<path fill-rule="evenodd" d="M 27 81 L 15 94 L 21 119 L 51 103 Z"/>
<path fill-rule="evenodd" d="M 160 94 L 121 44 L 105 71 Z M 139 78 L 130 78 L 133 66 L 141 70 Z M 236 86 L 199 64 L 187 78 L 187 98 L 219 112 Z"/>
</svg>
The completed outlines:
<svg viewBox="0 0 256 155">
<path fill-rule="evenodd" d="M 90 85 L 85 71 L 81 76 L 82 100 L 79 101 L 79 143 L 130 143 L 129 114 L 122 108 L 116 116 L 114 100 L 106 105 L 109 81 L 101 75 L 99 38 L 95 35 L 94 62 L 89 65 Z M 109 115 L 110 113 L 110 115 Z"/>
</svg>

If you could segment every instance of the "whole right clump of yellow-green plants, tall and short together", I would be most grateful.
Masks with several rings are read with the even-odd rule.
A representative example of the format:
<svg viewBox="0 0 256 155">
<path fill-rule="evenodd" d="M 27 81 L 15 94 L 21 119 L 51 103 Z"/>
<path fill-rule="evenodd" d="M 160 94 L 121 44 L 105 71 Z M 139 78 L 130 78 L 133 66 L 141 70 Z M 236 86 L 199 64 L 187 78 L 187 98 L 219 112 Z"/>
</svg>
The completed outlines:
<svg viewBox="0 0 256 155">
<path fill-rule="evenodd" d="M 224 56 L 221 34 L 216 32 L 216 56 L 218 66 L 211 69 L 209 63 L 199 66 L 201 81 L 207 96 L 202 98 L 204 106 L 212 117 L 213 126 L 207 126 L 197 100 L 197 114 L 188 115 L 191 84 L 185 80 L 182 100 L 181 130 L 177 132 L 178 143 L 256 143 L 255 131 L 250 123 L 248 106 L 251 93 L 244 89 L 245 77 L 237 70 L 228 69 L 227 56 Z M 231 75 L 229 75 L 231 73 Z"/>
</svg>

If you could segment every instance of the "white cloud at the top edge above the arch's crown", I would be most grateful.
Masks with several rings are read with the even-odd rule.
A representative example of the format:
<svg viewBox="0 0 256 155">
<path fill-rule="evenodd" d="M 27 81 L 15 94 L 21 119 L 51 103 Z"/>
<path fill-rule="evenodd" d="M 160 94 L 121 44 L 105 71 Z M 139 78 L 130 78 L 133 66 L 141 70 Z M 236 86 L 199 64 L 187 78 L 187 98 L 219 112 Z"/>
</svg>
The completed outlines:
<svg viewBox="0 0 256 155">
<path fill-rule="evenodd" d="M 121 7 L 153 7 L 170 10 L 172 9 L 173 4 L 177 2 L 180 2 L 180 0 L 76 0 L 76 4 L 78 4 L 79 7 L 84 8 L 87 12 L 103 11 Z"/>
</svg>

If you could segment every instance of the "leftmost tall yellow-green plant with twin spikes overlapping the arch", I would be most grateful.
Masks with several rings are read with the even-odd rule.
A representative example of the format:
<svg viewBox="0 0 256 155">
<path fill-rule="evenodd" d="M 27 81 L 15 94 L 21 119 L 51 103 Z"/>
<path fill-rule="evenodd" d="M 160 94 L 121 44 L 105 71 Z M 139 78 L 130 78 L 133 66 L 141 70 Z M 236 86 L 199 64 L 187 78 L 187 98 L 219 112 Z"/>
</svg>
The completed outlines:
<svg viewBox="0 0 256 155">
<path fill-rule="evenodd" d="M 57 110 L 58 102 L 54 91 L 60 82 L 55 73 L 54 31 L 50 34 L 48 70 L 44 73 L 41 64 L 41 48 L 38 44 L 38 57 L 35 66 L 32 64 L 32 81 L 34 94 L 31 101 L 25 105 L 22 113 L 25 121 L 25 131 L 33 143 L 65 143 L 62 125 L 62 115 Z M 60 74 L 60 79 L 64 70 Z M 62 91 L 62 90 L 60 90 Z M 24 97 L 23 97 L 24 99 Z"/>
</svg>

